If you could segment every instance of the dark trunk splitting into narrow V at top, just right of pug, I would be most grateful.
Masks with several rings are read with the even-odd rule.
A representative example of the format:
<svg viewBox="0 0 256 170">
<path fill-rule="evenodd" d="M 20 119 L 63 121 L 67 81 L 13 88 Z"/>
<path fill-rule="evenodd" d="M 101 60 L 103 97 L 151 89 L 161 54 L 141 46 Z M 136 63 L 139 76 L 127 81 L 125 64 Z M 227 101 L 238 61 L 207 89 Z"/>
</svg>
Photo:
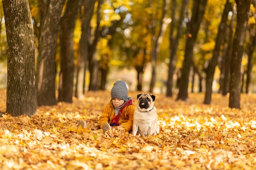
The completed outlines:
<svg viewBox="0 0 256 170">
<path fill-rule="evenodd" d="M 177 2 L 176 0 L 173 0 L 172 4 L 172 22 L 171 22 L 171 29 L 170 29 L 170 62 L 168 65 L 168 79 L 167 79 L 167 91 L 166 91 L 166 96 L 171 97 L 173 95 L 173 74 L 175 71 L 175 64 L 176 64 L 176 52 L 177 52 L 177 47 L 180 41 L 180 36 L 182 34 L 182 29 L 183 29 L 183 20 L 184 20 L 184 13 L 185 13 L 185 7 L 188 3 L 188 0 L 183 0 L 182 2 L 182 7 L 180 9 L 180 20 L 177 25 L 177 34 L 176 37 L 174 37 L 174 30 L 175 30 L 175 15 L 176 15 L 176 8 L 177 8 Z"/>
</svg>

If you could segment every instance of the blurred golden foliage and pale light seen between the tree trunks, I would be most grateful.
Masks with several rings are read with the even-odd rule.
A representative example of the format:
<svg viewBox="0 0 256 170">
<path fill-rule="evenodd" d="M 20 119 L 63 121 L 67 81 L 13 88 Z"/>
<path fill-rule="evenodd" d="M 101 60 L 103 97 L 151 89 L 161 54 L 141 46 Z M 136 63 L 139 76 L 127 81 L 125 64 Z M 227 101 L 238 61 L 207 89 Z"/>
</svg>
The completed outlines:
<svg viewBox="0 0 256 170">
<path fill-rule="evenodd" d="M 67 1 L 67 0 L 66 0 Z M 130 90 L 138 90 L 138 80 L 141 79 L 143 86 L 142 91 L 149 91 L 149 84 L 151 79 L 151 53 L 152 53 L 152 40 L 155 35 L 162 28 L 162 12 L 164 0 L 103 0 L 101 10 L 101 20 L 99 30 L 101 31 L 100 38 L 97 42 L 97 61 L 98 69 L 107 70 L 106 84 L 103 86 L 106 89 L 111 88 L 112 83 L 117 79 L 123 79 L 127 82 Z M 173 15 L 175 18 L 171 18 L 173 3 L 176 3 L 176 13 Z M 230 1 L 235 4 L 234 0 Z M 39 0 L 29 0 L 31 17 L 34 24 L 35 34 L 35 49 L 36 58 L 38 55 L 38 36 L 40 28 L 40 13 L 39 13 Z M 97 27 L 97 3 L 95 0 L 94 13 L 90 19 L 90 29 L 93 31 Z M 179 20 L 180 8 L 182 6 L 182 0 L 169 1 L 169 7 L 167 11 L 168 19 Z M 218 34 L 218 27 L 222 18 L 222 13 L 225 7 L 225 1 L 223 0 L 208 0 L 204 18 L 200 24 L 200 29 L 196 38 L 195 46 L 193 48 L 193 65 L 197 68 L 198 75 L 195 76 L 195 82 L 189 83 L 189 91 L 200 92 L 199 77 L 202 77 L 203 81 L 206 77 L 207 66 L 211 62 L 211 57 L 215 47 L 216 35 Z M 218 5 L 217 5 L 218 4 Z M 184 11 L 184 20 L 182 21 L 182 35 L 178 41 L 176 51 L 176 62 L 174 71 L 174 83 L 173 89 L 177 89 L 178 79 L 180 77 L 180 71 L 182 69 L 182 62 L 184 60 L 185 44 L 186 44 L 186 31 L 187 24 L 191 19 L 193 1 L 188 1 L 186 4 L 186 10 Z M 74 66 L 79 63 L 79 41 L 81 39 L 81 12 L 83 11 L 83 5 L 81 5 L 78 17 L 76 19 L 74 29 Z M 65 11 L 65 5 L 63 7 L 63 13 Z M 229 13 L 229 21 L 233 13 Z M 4 26 L 4 15 L 2 10 L 2 2 L 0 3 L 0 88 L 6 88 L 7 79 L 7 41 Z M 170 22 L 170 23 L 171 23 Z M 68 24 L 68 23 L 67 23 Z M 176 26 L 178 22 L 175 23 Z M 227 22 L 227 25 L 229 22 Z M 250 17 L 248 25 L 255 29 L 255 6 L 252 4 L 250 8 Z M 58 26 L 58 25 L 56 25 Z M 235 29 L 235 26 L 233 27 Z M 154 87 L 154 93 L 166 93 L 166 81 L 168 76 L 168 63 L 170 62 L 170 30 L 171 24 L 167 25 L 166 30 L 162 36 L 162 42 L 160 43 L 160 50 L 157 55 L 157 70 L 156 70 L 156 83 Z M 112 31 L 112 32 L 111 32 Z M 177 33 L 177 29 L 174 29 L 174 35 Z M 111 32 L 111 33 L 110 33 Z M 235 32 L 235 31 L 234 31 Z M 249 31 L 246 34 L 245 52 L 242 60 L 242 73 L 247 70 L 247 44 L 249 43 Z M 94 35 L 90 35 L 90 39 L 94 39 Z M 234 36 L 234 35 L 233 35 Z M 223 35 L 223 40 L 225 35 Z M 60 40 L 58 39 L 57 52 L 56 52 L 56 71 L 60 71 Z M 231 40 L 229 40 L 231 41 Z M 227 43 L 227 42 L 226 42 Z M 213 90 L 218 92 L 220 88 L 220 77 L 222 69 L 222 58 L 225 53 L 225 42 L 220 47 L 220 56 L 218 57 L 218 65 L 216 67 L 216 73 L 214 75 Z M 255 91 L 255 72 L 256 72 L 256 58 L 253 54 L 253 68 L 252 68 L 252 90 Z M 88 69 L 88 68 L 86 68 Z M 75 72 L 76 74 L 76 72 Z M 88 76 L 88 70 L 85 74 L 85 89 L 88 90 L 90 78 Z M 139 75 L 140 74 L 140 75 Z M 192 73 L 191 73 L 192 74 Z M 101 77 L 99 75 L 98 82 L 101 86 Z M 139 77 L 141 76 L 141 77 Z M 75 76 L 74 76 L 75 77 Z M 137 78 L 138 77 L 138 78 Z M 75 82 L 75 78 L 74 78 Z M 58 88 L 58 76 L 56 76 L 56 89 Z M 193 89 L 191 89 L 193 88 Z M 100 88 L 99 88 L 100 89 Z M 202 89 L 204 91 L 204 88 Z M 243 90 L 242 90 L 243 91 Z"/>
</svg>

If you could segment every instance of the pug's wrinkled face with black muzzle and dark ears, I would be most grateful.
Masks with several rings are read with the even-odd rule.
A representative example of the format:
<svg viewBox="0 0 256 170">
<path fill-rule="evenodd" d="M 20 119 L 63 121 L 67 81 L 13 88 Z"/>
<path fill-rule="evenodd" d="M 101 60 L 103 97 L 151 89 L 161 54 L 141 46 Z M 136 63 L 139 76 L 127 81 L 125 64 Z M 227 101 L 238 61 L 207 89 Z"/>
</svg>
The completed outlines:
<svg viewBox="0 0 256 170">
<path fill-rule="evenodd" d="M 137 95 L 138 108 L 141 112 L 148 112 L 154 106 L 155 95 L 141 93 Z"/>
</svg>

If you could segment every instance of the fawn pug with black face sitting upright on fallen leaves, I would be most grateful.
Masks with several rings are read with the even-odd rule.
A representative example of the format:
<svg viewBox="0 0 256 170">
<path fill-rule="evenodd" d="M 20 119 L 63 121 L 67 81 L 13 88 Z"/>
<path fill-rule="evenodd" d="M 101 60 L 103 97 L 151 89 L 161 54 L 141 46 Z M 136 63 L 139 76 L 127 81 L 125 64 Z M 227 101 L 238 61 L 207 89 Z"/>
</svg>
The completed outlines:
<svg viewBox="0 0 256 170">
<path fill-rule="evenodd" d="M 157 135 L 159 126 L 157 124 L 157 109 L 154 107 L 155 95 L 141 93 L 137 95 L 138 105 L 135 107 L 133 115 L 132 136 L 139 133 Z"/>
</svg>

